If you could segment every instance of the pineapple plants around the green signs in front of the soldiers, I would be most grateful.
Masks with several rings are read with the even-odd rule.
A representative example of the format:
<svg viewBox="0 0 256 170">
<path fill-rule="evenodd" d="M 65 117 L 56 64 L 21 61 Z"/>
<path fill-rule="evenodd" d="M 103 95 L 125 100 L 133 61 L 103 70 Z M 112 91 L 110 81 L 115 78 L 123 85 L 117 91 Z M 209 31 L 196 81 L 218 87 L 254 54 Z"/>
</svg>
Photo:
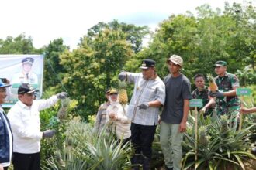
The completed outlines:
<svg viewBox="0 0 256 170">
<path fill-rule="evenodd" d="M 252 117 L 248 115 L 248 117 Z M 182 169 L 246 169 L 248 160 L 256 161 L 251 153 L 255 142 L 255 122 L 247 119 L 244 128 L 231 128 L 227 116 L 202 117 L 199 115 L 198 159 L 195 161 L 195 117 L 189 116 L 188 131 L 183 142 Z"/>
</svg>

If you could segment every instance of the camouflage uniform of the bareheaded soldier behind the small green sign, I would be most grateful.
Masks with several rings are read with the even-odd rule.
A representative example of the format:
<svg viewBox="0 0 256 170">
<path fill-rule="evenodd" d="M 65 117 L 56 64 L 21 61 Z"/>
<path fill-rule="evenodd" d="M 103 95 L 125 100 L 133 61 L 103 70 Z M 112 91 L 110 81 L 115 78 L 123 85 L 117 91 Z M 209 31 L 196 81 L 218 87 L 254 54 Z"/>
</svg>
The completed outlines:
<svg viewBox="0 0 256 170">
<path fill-rule="evenodd" d="M 208 87 L 204 87 L 202 89 L 202 91 L 199 91 L 198 88 L 196 88 L 193 92 L 192 92 L 192 98 L 193 99 L 202 99 L 202 106 L 206 106 L 206 104 L 208 104 L 209 102 L 209 97 L 208 97 Z M 206 109 L 206 113 L 204 114 L 204 116 L 206 115 L 212 115 L 213 114 L 213 107 L 209 107 Z M 197 110 L 201 110 L 202 107 L 197 107 Z"/>
</svg>

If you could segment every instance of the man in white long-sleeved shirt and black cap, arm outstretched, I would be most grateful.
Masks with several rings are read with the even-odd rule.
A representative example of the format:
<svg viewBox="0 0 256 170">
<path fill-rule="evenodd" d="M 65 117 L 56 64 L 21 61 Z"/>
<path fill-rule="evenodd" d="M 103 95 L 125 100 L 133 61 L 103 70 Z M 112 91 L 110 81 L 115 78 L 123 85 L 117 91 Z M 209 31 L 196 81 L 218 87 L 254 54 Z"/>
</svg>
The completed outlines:
<svg viewBox="0 0 256 170">
<path fill-rule="evenodd" d="M 8 113 L 13 133 L 14 170 L 40 169 L 40 140 L 52 138 L 55 133 L 52 130 L 40 131 L 40 110 L 67 97 L 67 93 L 61 92 L 47 100 L 34 100 L 35 92 L 36 89 L 28 83 L 22 83 L 18 89 L 19 100 Z"/>
</svg>

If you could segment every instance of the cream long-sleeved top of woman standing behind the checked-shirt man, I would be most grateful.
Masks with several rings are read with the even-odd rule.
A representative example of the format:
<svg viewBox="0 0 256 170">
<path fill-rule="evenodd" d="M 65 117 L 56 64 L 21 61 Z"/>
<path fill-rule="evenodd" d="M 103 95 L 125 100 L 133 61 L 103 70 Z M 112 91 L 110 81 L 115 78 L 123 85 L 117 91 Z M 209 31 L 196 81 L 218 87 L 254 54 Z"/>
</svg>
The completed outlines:
<svg viewBox="0 0 256 170">
<path fill-rule="evenodd" d="M 129 138 L 131 135 L 130 132 L 130 119 L 126 117 L 126 110 L 127 110 L 127 105 L 124 107 L 115 102 L 109 105 L 106 110 L 106 119 L 107 121 L 112 121 L 111 119 L 109 120 L 109 114 L 114 113 L 116 114 L 116 121 L 112 121 L 114 124 L 114 128 L 116 128 L 116 137 L 118 139 L 126 139 Z"/>
</svg>

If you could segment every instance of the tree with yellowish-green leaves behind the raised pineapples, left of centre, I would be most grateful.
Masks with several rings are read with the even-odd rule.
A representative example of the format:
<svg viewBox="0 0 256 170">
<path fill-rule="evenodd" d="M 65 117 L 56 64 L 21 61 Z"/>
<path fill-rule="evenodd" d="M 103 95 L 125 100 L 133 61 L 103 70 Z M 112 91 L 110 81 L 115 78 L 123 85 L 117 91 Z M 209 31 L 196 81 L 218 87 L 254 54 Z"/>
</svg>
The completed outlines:
<svg viewBox="0 0 256 170">
<path fill-rule="evenodd" d="M 130 56 L 133 50 L 126 34 L 110 29 L 102 29 L 94 37 L 84 36 L 78 49 L 61 55 L 67 72 L 63 83 L 71 97 L 78 100 L 78 114 L 95 114 L 104 100 L 104 90 L 115 86 L 116 74 Z"/>
</svg>

